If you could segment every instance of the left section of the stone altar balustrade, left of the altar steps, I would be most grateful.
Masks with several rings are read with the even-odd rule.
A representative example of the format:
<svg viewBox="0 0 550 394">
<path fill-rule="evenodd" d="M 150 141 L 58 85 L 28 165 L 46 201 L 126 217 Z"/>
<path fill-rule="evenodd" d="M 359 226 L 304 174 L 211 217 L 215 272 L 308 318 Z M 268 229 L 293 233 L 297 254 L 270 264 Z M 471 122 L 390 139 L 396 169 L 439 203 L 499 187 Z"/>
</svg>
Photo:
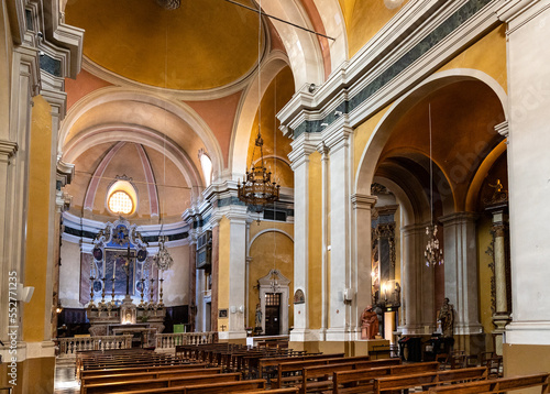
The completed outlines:
<svg viewBox="0 0 550 394">
<path fill-rule="evenodd" d="M 58 357 L 73 358 L 77 351 L 130 349 L 132 336 L 99 336 L 99 337 L 68 337 L 55 340 L 58 347 Z"/>
</svg>

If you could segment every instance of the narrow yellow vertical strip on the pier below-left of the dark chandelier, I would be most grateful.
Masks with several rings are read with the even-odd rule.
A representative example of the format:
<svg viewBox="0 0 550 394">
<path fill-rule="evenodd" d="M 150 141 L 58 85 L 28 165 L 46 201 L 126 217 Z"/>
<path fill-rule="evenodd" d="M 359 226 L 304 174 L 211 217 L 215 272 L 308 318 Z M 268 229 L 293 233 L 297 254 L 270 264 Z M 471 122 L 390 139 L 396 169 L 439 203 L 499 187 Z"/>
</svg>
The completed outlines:
<svg viewBox="0 0 550 394">
<path fill-rule="evenodd" d="M 219 225 L 219 263 L 218 263 L 218 309 L 229 309 L 229 252 L 230 252 L 230 221 L 223 217 Z M 218 331 L 221 331 L 221 326 L 226 326 L 228 330 L 228 318 L 218 318 Z"/>
</svg>

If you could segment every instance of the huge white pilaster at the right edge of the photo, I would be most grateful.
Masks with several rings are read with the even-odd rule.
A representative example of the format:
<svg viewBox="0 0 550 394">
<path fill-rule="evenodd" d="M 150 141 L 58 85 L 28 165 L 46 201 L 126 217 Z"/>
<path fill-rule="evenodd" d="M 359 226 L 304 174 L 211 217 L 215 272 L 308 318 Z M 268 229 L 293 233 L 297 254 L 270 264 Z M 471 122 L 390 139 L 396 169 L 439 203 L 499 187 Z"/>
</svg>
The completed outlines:
<svg viewBox="0 0 550 394">
<path fill-rule="evenodd" d="M 508 8 L 506 8 L 508 7 Z M 513 321 L 506 342 L 550 344 L 546 190 L 550 156 L 550 3 L 512 1 L 499 18 L 508 23 L 508 188 Z M 534 164 L 536 163 L 536 165 Z"/>
</svg>

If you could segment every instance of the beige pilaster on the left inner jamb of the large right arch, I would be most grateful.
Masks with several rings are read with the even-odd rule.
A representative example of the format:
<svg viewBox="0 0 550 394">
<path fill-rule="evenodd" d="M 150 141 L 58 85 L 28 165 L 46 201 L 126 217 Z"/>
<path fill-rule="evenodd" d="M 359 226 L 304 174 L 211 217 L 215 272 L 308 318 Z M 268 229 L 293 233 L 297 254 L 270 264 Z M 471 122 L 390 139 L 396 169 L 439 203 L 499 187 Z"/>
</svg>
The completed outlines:
<svg viewBox="0 0 550 394">
<path fill-rule="evenodd" d="M 353 222 L 355 229 L 355 248 L 352 260 L 352 269 L 356 273 L 352 289 L 355 297 L 352 300 L 352 339 L 361 339 L 361 315 L 365 307 L 372 304 L 371 299 L 371 260 L 372 239 L 371 221 L 372 209 L 376 204 L 376 196 L 359 195 L 351 196 L 353 207 Z"/>
</svg>

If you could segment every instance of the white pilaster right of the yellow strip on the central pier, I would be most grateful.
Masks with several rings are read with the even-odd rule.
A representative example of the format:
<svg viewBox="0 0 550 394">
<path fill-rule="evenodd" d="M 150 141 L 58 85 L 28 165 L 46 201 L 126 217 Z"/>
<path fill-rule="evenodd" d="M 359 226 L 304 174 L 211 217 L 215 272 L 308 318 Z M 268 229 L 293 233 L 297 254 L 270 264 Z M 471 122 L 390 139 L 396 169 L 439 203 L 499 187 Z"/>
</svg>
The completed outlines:
<svg viewBox="0 0 550 394">
<path fill-rule="evenodd" d="M 330 149 L 330 289 L 329 341 L 349 340 L 351 305 L 344 292 L 352 283 L 351 270 L 351 142 L 352 130 L 343 127 L 333 132 L 324 143 Z"/>
</svg>

